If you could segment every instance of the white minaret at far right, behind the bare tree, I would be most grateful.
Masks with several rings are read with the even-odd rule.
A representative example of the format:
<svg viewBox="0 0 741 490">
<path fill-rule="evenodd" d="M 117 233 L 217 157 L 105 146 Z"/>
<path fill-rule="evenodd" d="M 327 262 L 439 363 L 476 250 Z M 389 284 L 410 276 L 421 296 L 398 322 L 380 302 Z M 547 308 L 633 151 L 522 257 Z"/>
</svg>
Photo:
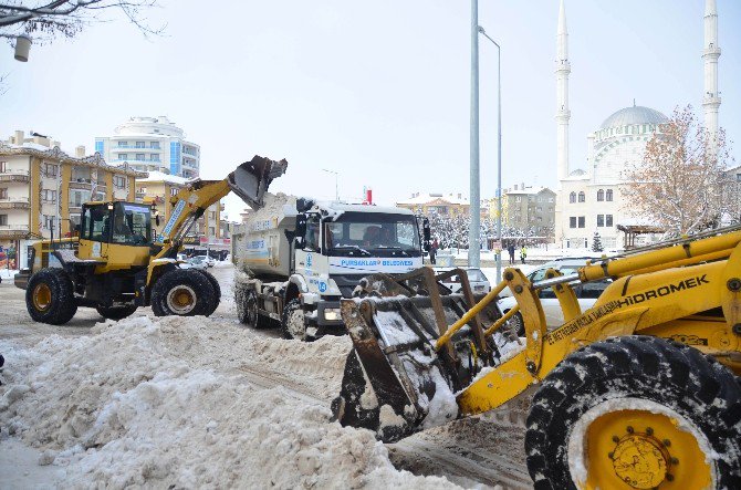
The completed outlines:
<svg viewBox="0 0 741 490">
<path fill-rule="evenodd" d="M 705 95 L 702 107 L 705 108 L 705 127 L 711 136 L 718 133 L 718 108 L 720 97 L 718 96 L 718 59 L 720 46 L 718 45 L 718 8 L 716 0 L 705 1 L 705 46 L 702 61 L 705 63 Z"/>
</svg>

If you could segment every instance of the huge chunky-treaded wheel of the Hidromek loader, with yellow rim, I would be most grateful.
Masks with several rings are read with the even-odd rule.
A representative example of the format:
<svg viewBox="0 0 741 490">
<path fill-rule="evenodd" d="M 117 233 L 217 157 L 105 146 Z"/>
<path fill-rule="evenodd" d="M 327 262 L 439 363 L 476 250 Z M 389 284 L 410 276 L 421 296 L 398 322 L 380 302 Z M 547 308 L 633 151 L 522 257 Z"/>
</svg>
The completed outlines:
<svg viewBox="0 0 741 490">
<path fill-rule="evenodd" d="M 541 385 L 525 452 L 539 490 L 741 488 L 741 386 L 683 344 L 597 342 Z"/>
</svg>

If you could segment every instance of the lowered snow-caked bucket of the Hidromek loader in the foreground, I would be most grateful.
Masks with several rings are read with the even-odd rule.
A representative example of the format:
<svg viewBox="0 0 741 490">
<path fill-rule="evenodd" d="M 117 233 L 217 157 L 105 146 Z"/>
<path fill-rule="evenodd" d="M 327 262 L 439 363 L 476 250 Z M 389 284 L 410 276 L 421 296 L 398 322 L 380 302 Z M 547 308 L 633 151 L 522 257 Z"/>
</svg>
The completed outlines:
<svg viewBox="0 0 741 490">
<path fill-rule="evenodd" d="M 470 288 L 450 294 L 431 269 L 422 268 L 403 278 L 374 274 L 356 291 L 366 298 L 341 303 L 354 348 L 333 402 L 335 417 L 386 442 L 457 418 L 455 394 L 494 362 L 495 347 L 479 334 L 482 321 L 501 316 L 495 303 L 436 351 L 440 333 L 477 301 Z"/>
</svg>

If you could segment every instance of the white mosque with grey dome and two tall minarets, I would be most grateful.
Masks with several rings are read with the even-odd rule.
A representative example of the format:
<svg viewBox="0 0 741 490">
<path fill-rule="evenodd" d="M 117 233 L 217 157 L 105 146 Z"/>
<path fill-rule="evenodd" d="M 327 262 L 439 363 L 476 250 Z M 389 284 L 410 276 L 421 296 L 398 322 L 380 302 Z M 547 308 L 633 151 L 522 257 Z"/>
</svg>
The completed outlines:
<svg viewBox="0 0 741 490">
<path fill-rule="evenodd" d="M 559 11 L 556 34 L 556 128 L 559 192 L 555 209 L 555 241 L 563 248 L 592 246 L 594 232 L 601 236 L 605 250 L 622 248 L 625 232 L 647 223 L 632 213 L 622 187 L 626 165 L 640 161 L 647 142 L 660 134 L 669 118 L 650 107 L 635 105 L 622 108 L 607 117 L 587 136 L 585 168 L 568 166 L 568 32 L 564 0 Z M 706 0 L 705 46 L 705 126 L 710 134 L 718 131 L 718 10 L 716 0 Z M 646 237 L 645 237 L 646 238 Z M 638 242 L 639 243 L 639 242 Z"/>
</svg>

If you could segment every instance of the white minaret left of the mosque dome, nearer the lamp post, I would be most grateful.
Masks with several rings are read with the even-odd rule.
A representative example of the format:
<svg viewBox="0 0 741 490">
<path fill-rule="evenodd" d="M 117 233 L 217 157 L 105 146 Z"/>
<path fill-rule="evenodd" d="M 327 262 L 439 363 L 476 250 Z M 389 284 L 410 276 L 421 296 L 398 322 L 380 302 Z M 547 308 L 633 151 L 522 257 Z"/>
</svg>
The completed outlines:
<svg viewBox="0 0 741 490">
<path fill-rule="evenodd" d="M 566 30 L 566 9 L 561 0 L 559 9 L 559 31 L 556 34 L 556 167 L 559 186 L 568 176 L 568 32 Z"/>
</svg>

